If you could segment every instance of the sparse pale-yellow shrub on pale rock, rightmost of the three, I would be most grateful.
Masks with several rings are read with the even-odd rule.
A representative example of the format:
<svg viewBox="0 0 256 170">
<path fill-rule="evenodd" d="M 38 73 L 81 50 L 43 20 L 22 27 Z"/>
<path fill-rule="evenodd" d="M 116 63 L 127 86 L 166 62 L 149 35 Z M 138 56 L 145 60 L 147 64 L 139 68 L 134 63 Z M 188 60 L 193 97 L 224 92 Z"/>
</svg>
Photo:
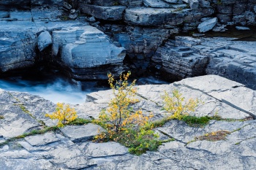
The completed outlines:
<svg viewBox="0 0 256 170">
<path fill-rule="evenodd" d="M 169 112 L 170 119 L 181 120 L 184 116 L 189 115 L 189 112 L 195 112 L 199 101 L 198 99 L 190 98 L 189 101 L 185 102 L 182 94 L 178 90 L 173 90 L 173 96 L 165 91 L 165 95 L 162 96 L 164 102 L 164 109 Z"/>
</svg>

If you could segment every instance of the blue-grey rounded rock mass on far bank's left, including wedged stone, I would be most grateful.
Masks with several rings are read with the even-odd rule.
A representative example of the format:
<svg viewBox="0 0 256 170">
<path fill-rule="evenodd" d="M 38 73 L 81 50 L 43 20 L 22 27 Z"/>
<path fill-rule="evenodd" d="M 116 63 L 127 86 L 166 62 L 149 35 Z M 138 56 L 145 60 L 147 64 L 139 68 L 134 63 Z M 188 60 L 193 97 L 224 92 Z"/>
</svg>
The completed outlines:
<svg viewBox="0 0 256 170">
<path fill-rule="evenodd" d="M 0 73 L 40 62 L 59 66 L 78 80 L 104 80 L 108 72 L 119 75 L 127 70 L 123 66 L 124 47 L 116 47 L 106 34 L 84 20 L 64 18 L 73 7 L 67 2 L 46 2 L 12 10 L 18 1 L 0 1 L 10 5 L 0 10 Z"/>
</svg>

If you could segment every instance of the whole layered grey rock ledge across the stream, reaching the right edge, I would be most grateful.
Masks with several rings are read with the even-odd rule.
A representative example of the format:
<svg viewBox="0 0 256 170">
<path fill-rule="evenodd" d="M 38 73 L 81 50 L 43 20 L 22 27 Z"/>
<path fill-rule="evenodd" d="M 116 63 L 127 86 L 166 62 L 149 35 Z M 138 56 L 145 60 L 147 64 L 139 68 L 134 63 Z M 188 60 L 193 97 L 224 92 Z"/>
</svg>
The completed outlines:
<svg viewBox="0 0 256 170">
<path fill-rule="evenodd" d="M 217 74 L 256 89 L 256 42 L 234 40 L 176 36 L 176 41 L 157 50 L 154 66 L 162 65 L 170 80 Z"/>
</svg>

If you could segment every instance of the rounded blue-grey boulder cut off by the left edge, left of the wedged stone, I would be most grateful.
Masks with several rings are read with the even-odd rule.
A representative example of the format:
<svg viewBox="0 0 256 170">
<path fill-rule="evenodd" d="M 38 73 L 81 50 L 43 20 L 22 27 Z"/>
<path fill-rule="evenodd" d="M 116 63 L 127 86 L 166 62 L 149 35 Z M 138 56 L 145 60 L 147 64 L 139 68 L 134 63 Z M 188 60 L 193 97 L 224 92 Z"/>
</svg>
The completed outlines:
<svg viewBox="0 0 256 170">
<path fill-rule="evenodd" d="M 5 22 L 1 22 L 4 24 Z M 1 25 L 3 27 L 6 25 Z M 16 25 L 17 26 L 17 25 Z M 28 28 L 28 27 L 26 27 Z M 10 28 L 0 31 L 0 72 L 24 68 L 34 64 L 37 36 L 33 28 Z"/>
</svg>

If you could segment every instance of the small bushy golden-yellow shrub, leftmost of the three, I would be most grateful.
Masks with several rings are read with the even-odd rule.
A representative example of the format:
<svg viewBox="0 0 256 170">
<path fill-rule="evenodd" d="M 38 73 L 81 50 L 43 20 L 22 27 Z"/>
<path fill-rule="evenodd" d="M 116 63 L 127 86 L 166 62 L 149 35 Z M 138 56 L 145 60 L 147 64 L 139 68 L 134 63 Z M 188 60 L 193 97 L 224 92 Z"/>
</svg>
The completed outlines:
<svg viewBox="0 0 256 170">
<path fill-rule="evenodd" d="M 58 127 L 64 127 L 65 124 L 75 120 L 78 115 L 75 112 L 74 108 L 70 108 L 69 104 L 57 103 L 56 112 L 53 112 L 51 115 L 46 114 L 46 117 L 50 119 L 58 119 Z"/>
</svg>

